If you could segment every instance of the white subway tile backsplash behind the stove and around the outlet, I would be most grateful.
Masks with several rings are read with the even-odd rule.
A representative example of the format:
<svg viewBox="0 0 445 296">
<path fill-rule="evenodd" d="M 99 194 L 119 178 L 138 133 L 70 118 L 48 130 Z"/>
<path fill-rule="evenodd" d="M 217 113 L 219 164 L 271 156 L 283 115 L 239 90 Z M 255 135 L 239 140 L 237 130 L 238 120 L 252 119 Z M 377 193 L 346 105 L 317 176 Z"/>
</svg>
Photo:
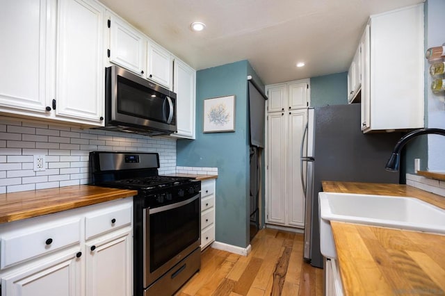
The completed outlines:
<svg viewBox="0 0 445 296">
<path fill-rule="evenodd" d="M 0 139 L 0 194 L 88 184 L 90 151 L 157 152 L 159 174 L 177 172 L 173 138 L 0 120 Z M 33 171 L 33 155 L 46 156 L 46 170 Z"/>
</svg>

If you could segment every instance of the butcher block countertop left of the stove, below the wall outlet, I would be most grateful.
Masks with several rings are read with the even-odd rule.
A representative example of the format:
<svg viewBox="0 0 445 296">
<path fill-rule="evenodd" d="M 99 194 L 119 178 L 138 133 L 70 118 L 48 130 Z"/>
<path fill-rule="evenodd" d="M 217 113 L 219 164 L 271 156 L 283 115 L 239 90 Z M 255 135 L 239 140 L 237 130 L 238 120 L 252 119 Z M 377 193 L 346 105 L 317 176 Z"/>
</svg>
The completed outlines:
<svg viewBox="0 0 445 296">
<path fill-rule="evenodd" d="M 136 190 L 89 185 L 6 193 L 0 195 L 0 223 L 109 202 L 136 194 Z"/>
</svg>

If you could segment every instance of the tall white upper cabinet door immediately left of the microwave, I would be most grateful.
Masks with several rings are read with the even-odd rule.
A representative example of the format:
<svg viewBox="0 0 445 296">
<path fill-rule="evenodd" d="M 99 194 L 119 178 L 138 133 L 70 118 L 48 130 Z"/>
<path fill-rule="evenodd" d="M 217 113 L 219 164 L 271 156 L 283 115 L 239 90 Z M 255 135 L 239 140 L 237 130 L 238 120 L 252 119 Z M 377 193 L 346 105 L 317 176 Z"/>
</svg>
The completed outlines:
<svg viewBox="0 0 445 296">
<path fill-rule="evenodd" d="M 56 115 L 103 126 L 105 10 L 90 0 L 58 1 Z"/>
</svg>

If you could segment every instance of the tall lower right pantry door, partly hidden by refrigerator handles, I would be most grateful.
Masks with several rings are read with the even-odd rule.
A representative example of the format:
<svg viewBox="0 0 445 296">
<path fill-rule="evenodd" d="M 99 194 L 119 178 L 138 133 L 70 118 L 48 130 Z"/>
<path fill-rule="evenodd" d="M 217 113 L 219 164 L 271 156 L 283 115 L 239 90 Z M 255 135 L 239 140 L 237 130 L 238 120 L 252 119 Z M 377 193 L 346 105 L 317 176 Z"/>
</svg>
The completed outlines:
<svg viewBox="0 0 445 296">
<path fill-rule="evenodd" d="M 300 180 L 300 147 L 307 122 L 307 110 L 289 112 L 289 131 L 287 143 L 287 181 L 289 204 L 286 206 L 289 225 L 305 226 L 305 196 Z"/>
</svg>

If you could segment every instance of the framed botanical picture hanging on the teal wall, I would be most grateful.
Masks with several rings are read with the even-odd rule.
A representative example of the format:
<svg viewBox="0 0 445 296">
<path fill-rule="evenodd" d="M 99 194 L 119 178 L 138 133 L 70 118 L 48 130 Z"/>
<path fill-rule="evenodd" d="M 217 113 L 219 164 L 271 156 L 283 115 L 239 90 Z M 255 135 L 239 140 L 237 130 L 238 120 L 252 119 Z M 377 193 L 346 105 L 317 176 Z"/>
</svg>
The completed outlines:
<svg viewBox="0 0 445 296">
<path fill-rule="evenodd" d="M 204 133 L 235 131 L 235 96 L 204 99 Z"/>
</svg>

